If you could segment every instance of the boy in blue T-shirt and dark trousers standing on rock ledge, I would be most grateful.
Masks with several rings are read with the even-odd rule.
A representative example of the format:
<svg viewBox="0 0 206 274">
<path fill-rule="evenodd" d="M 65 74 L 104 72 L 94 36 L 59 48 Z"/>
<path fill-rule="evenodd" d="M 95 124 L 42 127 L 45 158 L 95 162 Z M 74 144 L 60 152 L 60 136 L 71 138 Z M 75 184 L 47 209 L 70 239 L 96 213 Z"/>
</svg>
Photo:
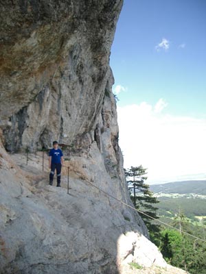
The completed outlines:
<svg viewBox="0 0 206 274">
<path fill-rule="evenodd" d="M 58 142 L 53 142 L 53 149 L 49 151 L 49 169 L 51 169 L 51 172 L 49 174 L 49 185 L 52 186 L 53 179 L 54 179 L 54 173 L 56 169 L 56 179 L 57 179 L 57 185 L 60 187 L 60 181 L 61 181 L 61 169 L 62 164 L 64 162 L 63 159 L 63 153 L 58 148 Z"/>
</svg>

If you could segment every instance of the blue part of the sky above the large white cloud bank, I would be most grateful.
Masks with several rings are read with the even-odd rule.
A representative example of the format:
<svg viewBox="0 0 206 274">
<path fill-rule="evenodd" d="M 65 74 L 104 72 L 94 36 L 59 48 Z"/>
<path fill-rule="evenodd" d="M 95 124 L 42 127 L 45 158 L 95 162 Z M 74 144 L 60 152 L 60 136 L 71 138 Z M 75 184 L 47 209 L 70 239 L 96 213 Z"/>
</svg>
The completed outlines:
<svg viewBox="0 0 206 274">
<path fill-rule="evenodd" d="M 163 38 L 169 49 L 157 51 Z M 132 93 L 120 105 L 163 97 L 174 114 L 205 114 L 206 1 L 125 0 L 111 67 L 115 83 Z"/>
</svg>

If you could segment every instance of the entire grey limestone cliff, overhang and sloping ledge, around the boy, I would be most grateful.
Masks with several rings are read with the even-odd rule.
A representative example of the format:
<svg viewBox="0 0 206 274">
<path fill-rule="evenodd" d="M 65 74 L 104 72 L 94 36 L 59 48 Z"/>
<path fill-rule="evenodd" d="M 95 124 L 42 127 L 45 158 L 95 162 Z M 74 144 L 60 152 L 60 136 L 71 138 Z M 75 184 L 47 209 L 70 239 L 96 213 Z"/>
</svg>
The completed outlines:
<svg viewBox="0 0 206 274">
<path fill-rule="evenodd" d="M 132 261 L 170 273 L 137 212 L 119 203 L 131 205 L 109 55 L 122 0 L 0 8 L 0 273 L 130 273 Z M 42 171 L 38 150 L 52 140 L 67 144 L 69 195 L 67 168 L 62 188 Z"/>
</svg>

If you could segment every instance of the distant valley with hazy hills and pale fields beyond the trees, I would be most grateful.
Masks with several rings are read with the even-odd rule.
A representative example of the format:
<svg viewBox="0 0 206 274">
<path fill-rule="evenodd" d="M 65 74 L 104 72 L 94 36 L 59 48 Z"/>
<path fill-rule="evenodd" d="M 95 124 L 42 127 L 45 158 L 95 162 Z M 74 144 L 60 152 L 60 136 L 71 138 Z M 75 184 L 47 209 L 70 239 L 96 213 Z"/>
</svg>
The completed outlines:
<svg viewBox="0 0 206 274">
<path fill-rule="evenodd" d="M 173 219 L 179 211 L 192 221 L 206 219 L 206 180 L 151 185 L 157 197 L 158 215 Z"/>
</svg>

